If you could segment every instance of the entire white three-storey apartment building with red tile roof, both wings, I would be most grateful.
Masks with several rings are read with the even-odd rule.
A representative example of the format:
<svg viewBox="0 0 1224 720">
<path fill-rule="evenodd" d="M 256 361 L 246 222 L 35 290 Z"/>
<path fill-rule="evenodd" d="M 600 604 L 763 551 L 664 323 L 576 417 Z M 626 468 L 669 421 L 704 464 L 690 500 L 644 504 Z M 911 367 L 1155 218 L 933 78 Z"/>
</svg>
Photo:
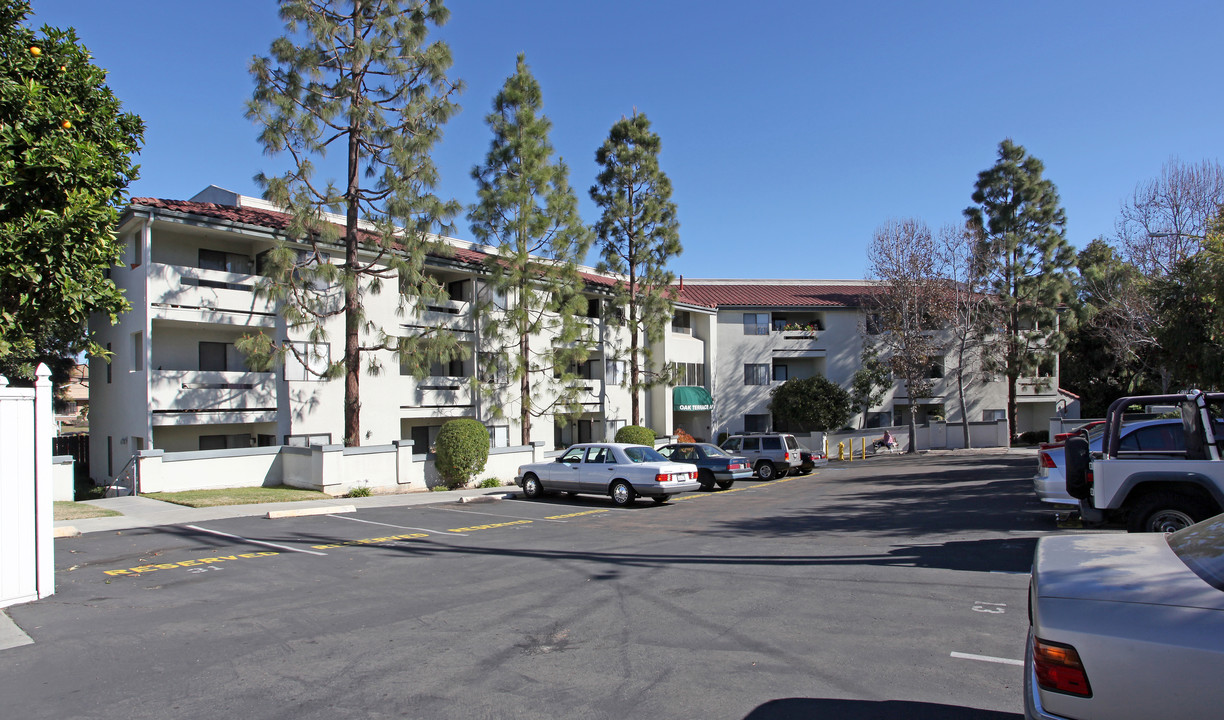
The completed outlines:
<svg viewBox="0 0 1224 720">
<path fill-rule="evenodd" d="M 132 311 L 114 326 L 104 317 L 91 322 L 98 342 L 114 353 L 111 362 L 92 359 L 89 366 L 95 480 L 120 475 L 142 449 L 341 442 L 343 381 L 321 381 L 291 358 L 269 372 L 253 372 L 235 349 L 240 337 L 261 331 L 282 342 L 304 339 L 256 293 L 262 258 L 283 239 L 288 222 L 266 201 L 219 187 L 190 201 L 132 200 L 118 228 L 124 262 L 111 269 Z M 379 358 L 383 372 L 360 380 L 362 446 L 412 441 L 414 452 L 424 453 L 454 418 L 486 425 L 494 447 L 520 443 L 517 383 L 476 377 L 487 348 L 475 299 L 488 291 L 481 278 L 491 249 L 444 241 L 452 252 L 431 257 L 427 272 L 446 285 L 449 300 L 397 313 L 397 294 L 383 293 L 366 295 L 365 310 L 392 334 L 444 327 L 468 345 L 468 358 L 438 364 L 424 380 L 395 372 L 393 353 Z M 577 381 L 583 413 L 561 425 L 553 416 L 536 418 L 531 441 L 546 447 L 610 440 L 632 422 L 627 362 L 619 355 L 628 334 L 606 311 L 617 279 L 589 268 L 583 276 L 590 328 L 589 360 Z M 848 387 L 863 343 L 859 299 L 868 289 L 863 282 L 682 280 L 671 331 L 652 348 L 655 369 L 672 364 L 677 384 L 643 393 L 641 424 L 661 435 L 683 429 L 715 441 L 721 432 L 771 429 L 769 391 L 789 377 L 824 375 Z M 317 349 L 338 360 L 343 318 L 327 329 L 330 343 Z M 868 425 L 900 424 L 908 411 L 923 421 L 936 408 L 953 421 L 958 407 L 949 386 L 936 383 L 931 398 L 913 399 L 894 388 L 873 408 Z M 534 404 L 547 404 L 547 388 L 535 387 L 542 394 Z M 1031 387 L 1022 397 L 1021 430 L 1044 427 L 1061 397 L 1056 376 Z M 969 419 L 994 420 L 1005 408 L 1004 382 L 978 386 Z"/>
</svg>

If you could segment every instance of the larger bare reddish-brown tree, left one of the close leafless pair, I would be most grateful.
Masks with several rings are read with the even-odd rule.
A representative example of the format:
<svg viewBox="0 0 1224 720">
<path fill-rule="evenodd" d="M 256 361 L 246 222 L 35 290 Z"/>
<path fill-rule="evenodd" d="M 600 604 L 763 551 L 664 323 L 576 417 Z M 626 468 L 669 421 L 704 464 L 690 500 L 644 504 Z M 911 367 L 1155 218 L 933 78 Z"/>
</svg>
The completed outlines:
<svg viewBox="0 0 1224 720">
<path fill-rule="evenodd" d="M 947 283 L 936 273 L 936 245 L 930 228 L 916 219 L 889 220 L 871 238 L 868 273 L 880 280 L 870 296 L 871 328 L 880 355 L 901 380 L 909 399 L 909 452 L 916 443 L 918 400 L 931 391 L 930 369 L 942 355 L 936 333 L 947 324 Z"/>
</svg>

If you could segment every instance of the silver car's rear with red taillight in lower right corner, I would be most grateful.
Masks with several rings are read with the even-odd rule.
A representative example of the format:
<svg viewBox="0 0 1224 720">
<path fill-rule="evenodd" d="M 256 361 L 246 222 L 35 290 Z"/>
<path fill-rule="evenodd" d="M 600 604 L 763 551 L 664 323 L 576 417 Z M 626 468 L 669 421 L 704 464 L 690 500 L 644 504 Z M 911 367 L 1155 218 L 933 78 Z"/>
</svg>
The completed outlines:
<svg viewBox="0 0 1224 720">
<path fill-rule="evenodd" d="M 1026 718 L 1219 718 L 1220 677 L 1224 514 L 1169 535 L 1038 541 Z"/>
</svg>

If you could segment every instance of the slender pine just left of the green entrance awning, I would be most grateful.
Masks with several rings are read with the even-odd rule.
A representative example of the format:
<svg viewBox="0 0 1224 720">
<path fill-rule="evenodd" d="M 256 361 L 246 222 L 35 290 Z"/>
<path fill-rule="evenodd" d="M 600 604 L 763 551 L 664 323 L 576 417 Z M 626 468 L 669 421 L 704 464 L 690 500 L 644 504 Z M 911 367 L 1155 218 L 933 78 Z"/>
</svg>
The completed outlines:
<svg viewBox="0 0 1224 720">
<path fill-rule="evenodd" d="M 672 184 L 659 168 L 661 146 L 645 115 L 622 118 L 595 153 L 602 170 L 591 186 L 591 200 L 602 209 L 595 224 L 600 268 L 627 278 L 616 285 L 613 304 L 625 312 L 629 329 L 634 425 L 641 422 L 641 391 L 668 380 L 666 370 L 652 366 L 650 343 L 671 322 L 676 276 L 667 261 L 683 251 Z"/>
</svg>

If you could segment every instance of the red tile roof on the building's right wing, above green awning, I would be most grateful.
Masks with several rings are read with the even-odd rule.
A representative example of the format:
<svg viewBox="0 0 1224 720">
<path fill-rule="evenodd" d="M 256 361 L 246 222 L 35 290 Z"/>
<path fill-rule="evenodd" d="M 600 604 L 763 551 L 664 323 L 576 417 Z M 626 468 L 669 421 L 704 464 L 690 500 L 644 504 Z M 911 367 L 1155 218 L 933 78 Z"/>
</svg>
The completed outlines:
<svg viewBox="0 0 1224 720">
<path fill-rule="evenodd" d="M 741 284 L 710 284 L 685 280 L 681 300 L 709 307 L 858 307 L 863 296 L 878 291 L 876 285 L 834 284 L 812 280 L 810 284 L 782 280 L 758 280 Z"/>
</svg>

